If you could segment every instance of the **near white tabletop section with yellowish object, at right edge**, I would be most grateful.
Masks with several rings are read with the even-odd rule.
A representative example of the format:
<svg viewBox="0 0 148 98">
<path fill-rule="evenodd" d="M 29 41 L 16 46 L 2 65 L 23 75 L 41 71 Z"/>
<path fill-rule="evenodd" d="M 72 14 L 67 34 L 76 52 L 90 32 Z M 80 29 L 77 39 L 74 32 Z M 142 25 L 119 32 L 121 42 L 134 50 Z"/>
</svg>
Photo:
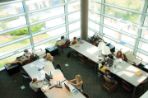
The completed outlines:
<svg viewBox="0 0 148 98">
<path fill-rule="evenodd" d="M 145 71 L 119 59 L 114 61 L 110 71 L 135 87 L 148 77 Z"/>
</svg>

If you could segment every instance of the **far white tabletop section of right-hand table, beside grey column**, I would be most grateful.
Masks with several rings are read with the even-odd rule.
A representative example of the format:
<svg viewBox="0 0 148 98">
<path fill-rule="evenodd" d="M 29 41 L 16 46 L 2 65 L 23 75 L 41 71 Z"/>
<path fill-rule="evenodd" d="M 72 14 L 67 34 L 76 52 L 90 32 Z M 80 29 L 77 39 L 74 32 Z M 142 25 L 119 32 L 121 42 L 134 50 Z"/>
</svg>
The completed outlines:
<svg viewBox="0 0 148 98">
<path fill-rule="evenodd" d="M 83 54 L 90 60 L 94 61 L 95 63 L 98 63 L 98 54 L 99 50 L 98 47 L 81 40 L 81 42 L 78 42 L 78 44 L 70 46 L 75 51 L 79 52 L 80 54 Z"/>
</svg>

